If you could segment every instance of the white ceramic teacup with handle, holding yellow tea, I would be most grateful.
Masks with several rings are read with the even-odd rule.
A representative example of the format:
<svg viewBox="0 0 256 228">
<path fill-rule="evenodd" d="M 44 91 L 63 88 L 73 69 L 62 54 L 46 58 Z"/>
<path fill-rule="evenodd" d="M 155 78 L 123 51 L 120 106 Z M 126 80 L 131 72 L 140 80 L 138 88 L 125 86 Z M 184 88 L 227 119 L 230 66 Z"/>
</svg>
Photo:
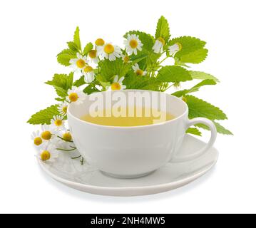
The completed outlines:
<svg viewBox="0 0 256 228">
<path fill-rule="evenodd" d="M 123 90 L 145 93 L 145 90 Z M 147 93 L 158 93 L 146 90 Z M 111 91 L 102 92 L 103 99 Z M 113 92 L 112 92 L 113 93 Z M 216 128 L 206 118 L 188 119 L 188 105 L 173 95 L 158 93 L 166 100 L 166 111 L 175 116 L 173 120 L 153 125 L 135 127 L 115 127 L 88 123 L 80 118 L 89 113 L 93 104 L 88 95 L 83 103 L 68 106 L 68 124 L 73 141 L 84 159 L 102 172 L 113 177 L 133 178 L 148 175 L 167 162 L 185 162 L 203 155 L 216 139 Z M 197 123 L 210 128 L 211 137 L 205 147 L 198 152 L 180 157 L 178 151 L 183 142 L 185 131 Z"/>
</svg>

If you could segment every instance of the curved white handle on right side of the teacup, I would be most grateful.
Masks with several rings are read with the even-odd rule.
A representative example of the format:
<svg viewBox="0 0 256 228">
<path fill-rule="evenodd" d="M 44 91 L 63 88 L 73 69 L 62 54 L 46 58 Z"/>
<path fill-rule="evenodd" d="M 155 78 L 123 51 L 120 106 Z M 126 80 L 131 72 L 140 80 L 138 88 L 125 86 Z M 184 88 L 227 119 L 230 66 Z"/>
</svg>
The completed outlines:
<svg viewBox="0 0 256 228">
<path fill-rule="evenodd" d="M 192 120 L 188 120 L 187 128 L 189 128 L 190 126 L 195 125 L 197 123 L 203 123 L 210 128 L 211 136 L 210 136 L 210 140 L 209 140 L 208 144 L 205 145 L 205 147 L 203 147 L 202 149 L 198 150 L 197 152 L 194 152 L 192 155 L 185 155 L 182 157 L 181 156 L 173 157 L 173 159 L 170 162 L 188 162 L 190 160 L 194 160 L 194 159 L 202 156 L 205 152 L 208 151 L 208 149 L 210 147 L 213 146 L 213 144 L 216 140 L 216 137 L 217 137 L 217 130 L 216 130 L 216 127 L 215 127 L 213 121 L 208 120 L 207 118 L 194 118 Z"/>
</svg>

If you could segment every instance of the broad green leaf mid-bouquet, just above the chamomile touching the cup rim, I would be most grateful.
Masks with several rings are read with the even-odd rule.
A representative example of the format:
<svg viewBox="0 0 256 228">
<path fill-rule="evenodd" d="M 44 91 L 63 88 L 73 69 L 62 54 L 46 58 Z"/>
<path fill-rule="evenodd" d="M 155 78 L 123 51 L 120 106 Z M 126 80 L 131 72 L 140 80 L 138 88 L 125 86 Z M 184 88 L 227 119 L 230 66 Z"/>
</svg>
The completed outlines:
<svg viewBox="0 0 256 228">
<path fill-rule="evenodd" d="M 130 64 L 123 64 L 122 58 L 117 58 L 116 61 L 106 59 L 101 63 L 101 76 L 103 81 L 111 81 L 111 78 L 116 75 L 121 78 L 126 76 L 128 71 L 130 71 Z"/>
</svg>

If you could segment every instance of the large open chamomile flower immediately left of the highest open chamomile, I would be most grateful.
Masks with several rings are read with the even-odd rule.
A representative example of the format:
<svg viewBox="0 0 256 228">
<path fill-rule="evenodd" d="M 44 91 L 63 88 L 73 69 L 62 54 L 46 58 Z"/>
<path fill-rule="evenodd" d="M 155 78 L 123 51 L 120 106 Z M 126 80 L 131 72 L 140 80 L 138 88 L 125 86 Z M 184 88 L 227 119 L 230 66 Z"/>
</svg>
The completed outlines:
<svg viewBox="0 0 256 228">
<path fill-rule="evenodd" d="M 121 57 L 121 49 L 111 43 L 105 43 L 103 46 L 98 46 L 98 54 L 102 58 L 109 59 L 110 61 L 115 61 L 116 58 Z"/>
</svg>

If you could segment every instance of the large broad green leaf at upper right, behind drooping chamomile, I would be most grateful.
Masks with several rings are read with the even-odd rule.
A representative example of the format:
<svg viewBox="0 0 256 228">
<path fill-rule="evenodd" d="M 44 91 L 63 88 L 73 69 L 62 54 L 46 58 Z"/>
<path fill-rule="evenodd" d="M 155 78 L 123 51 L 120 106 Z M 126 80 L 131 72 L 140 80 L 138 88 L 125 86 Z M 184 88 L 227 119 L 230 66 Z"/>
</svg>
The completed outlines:
<svg viewBox="0 0 256 228">
<path fill-rule="evenodd" d="M 208 50 L 205 47 L 205 41 L 191 36 L 181 36 L 173 38 L 169 45 L 180 43 L 182 48 L 175 54 L 175 58 L 182 63 L 200 63 L 205 60 Z"/>
</svg>

